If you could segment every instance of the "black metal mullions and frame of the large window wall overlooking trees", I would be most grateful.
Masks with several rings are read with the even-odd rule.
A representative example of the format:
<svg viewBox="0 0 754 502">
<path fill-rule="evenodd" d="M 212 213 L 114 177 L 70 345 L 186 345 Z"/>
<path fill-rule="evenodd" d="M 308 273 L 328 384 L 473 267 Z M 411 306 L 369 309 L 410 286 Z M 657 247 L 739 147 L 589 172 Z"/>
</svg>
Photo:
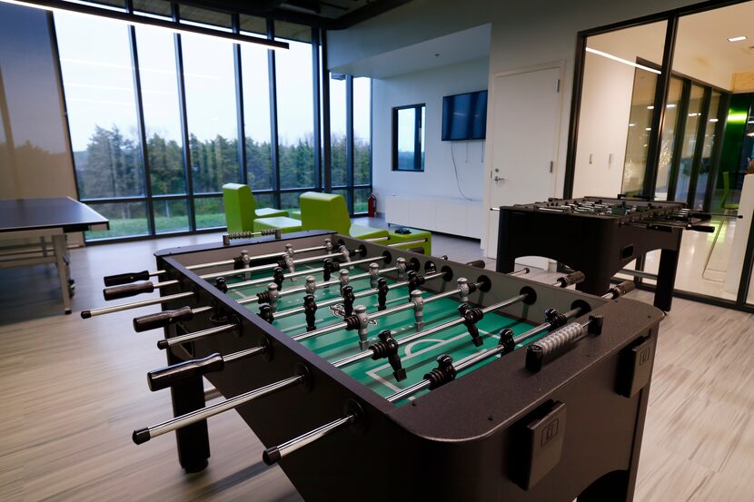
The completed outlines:
<svg viewBox="0 0 754 502">
<path fill-rule="evenodd" d="M 59 0 L 51 0 L 52 3 L 56 3 Z M 47 2 L 36 2 L 40 5 L 52 5 L 52 3 Z M 75 5 L 74 5 L 75 6 Z M 92 6 L 84 6 L 86 9 L 87 14 L 95 14 L 94 11 L 91 13 L 89 10 L 92 9 L 98 9 L 96 12 L 99 13 L 100 10 L 98 7 Z M 67 8 L 67 7 L 66 7 Z M 70 10 L 76 10 L 70 9 Z M 114 11 L 111 11 L 114 12 Z M 59 59 L 59 54 L 57 51 L 57 39 L 55 36 L 55 22 L 52 13 L 48 13 L 48 25 L 49 25 L 49 31 L 51 40 L 54 46 L 54 55 L 58 56 L 56 57 L 56 60 Z M 126 0 L 125 4 L 125 11 L 123 13 L 117 13 L 115 12 L 115 15 L 125 18 L 124 16 L 134 16 L 134 5 L 133 0 Z M 228 33 L 226 31 L 218 32 L 220 36 L 223 36 L 225 38 L 230 38 L 233 40 L 238 41 L 247 41 L 246 39 L 252 39 L 253 37 L 245 36 L 241 34 L 241 27 L 240 27 L 240 15 L 238 13 L 228 13 L 230 17 L 230 23 L 229 25 L 232 27 L 232 33 Z M 105 15 L 106 16 L 106 15 Z M 111 16 L 112 17 L 112 16 Z M 144 22 L 146 24 L 150 24 L 152 21 L 154 21 L 154 25 L 177 25 L 180 22 L 181 15 L 180 15 L 180 6 L 176 3 L 171 3 L 171 19 L 170 20 L 161 20 L 161 19 L 154 19 L 152 17 L 144 17 L 144 16 L 138 16 L 138 20 L 140 22 Z M 185 31 L 196 31 L 198 33 L 208 33 L 208 34 L 215 34 L 215 30 L 213 30 L 211 27 L 202 27 L 202 26 L 195 26 L 195 25 L 180 25 L 181 29 L 185 28 Z M 113 242 L 113 241 L 132 241 L 132 240 L 141 240 L 144 238 L 150 238 L 150 237 L 159 237 L 159 236 L 174 236 L 174 235 L 184 235 L 184 234 L 190 234 L 197 231 L 218 231 L 222 230 L 223 227 L 215 227 L 215 228 L 207 228 L 207 229 L 197 229 L 196 225 L 196 211 L 194 207 L 194 202 L 197 199 L 206 199 L 206 198 L 220 198 L 222 197 L 222 192 L 207 192 L 207 193 L 194 193 L 193 191 L 193 173 L 191 170 L 191 159 L 192 159 L 192 153 L 190 148 L 190 141 L 189 141 L 189 127 L 188 127 L 188 119 L 187 119 L 187 112 L 186 112 L 186 92 L 185 92 L 185 82 L 184 82 L 184 57 L 183 57 L 183 46 L 181 43 L 181 34 L 174 34 L 174 51 L 175 51 L 175 67 L 176 67 L 176 76 L 177 76 L 177 91 L 178 91 L 178 108 L 179 108 L 179 114 L 180 114 L 180 122 L 181 122 L 181 137 L 183 141 L 183 162 L 184 162 L 184 179 L 186 182 L 186 190 L 185 193 L 180 194 L 164 194 L 164 195 L 155 195 L 152 193 L 152 183 L 151 183 L 151 169 L 149 164 L 149 155 L 147 151 L 147 143 L 146 143 L 146 128 L 144 123 L 144 106 L 143 106 L 143 99 L 142 99 L 142 89 L 141 89 L 141 78 L 140 78 L 140 69 L 138 64 L 138 52 L 137 52 L 137 41 L 136 41 L 136 34 L 135 34 L 135 28 L 134 26 L 130 26 L 128 28 L 128 34 L 129 34 L 129 44 L 131 49 L 131 63 L 133 66 L 133 78 L 134 78 L 134 94 L 135 94 L 135 106 L 136 106 L 136 115 L 137 115 L 137 129 L 139 134 L 139 140 L 140 140 L 140 147 L 141 147 L 141 158 L 144 166 L 144 195 L 138 195 L 138 196 L 130 196 L 130 197 L 106 197 L 106 198 L 91 198 L 91 199 L 85 199 L 84 202 L 87 203 L 124 203 L 124 202 L 144 202 L 146 204 L 146 212 L 147 212 L 147 233 L 146 234 L 140 234 L 140 235 L 134 235 L 134 236 L 128 236 L 128 237 L 111 237 L 111 238 L 104 238 L 104 239 L 96 239 L 92 241 L 88 241 L 89 243 L 95 243 L 95 242 Z M 234 38 L 233 38 L 234 37 Z M 257 37 L 256 40 L 259 40 Z M 273 18 L 268 18 L 266 20 L 266 42 L 269 42 L 270 45 L 277 47 L 288 47 L 288 44 L 284 42 L 279 42 L 275 40 L 274 35 L 274 20 Z M 265 189 L 265 190 L 258 190 L 253 191 L 255 194 L 258 195 L 266 195 L 266 194 L 272 194 L 274 205 L 277 207 L 280 207 L 281 203 L 281 194 L 283 193 L 295 193 L 295 192 L 306 192 L 309 190 L 315 190 L 320 191 L 324 190 L 325 192 L 331 192 L 333 188 L 336 189 L 345 189 L 347 191 L 347 200 L 348 200 L 348 207 L 349 211 L 353 214 L 353 200 L 354 195 L 353 191 L 354 189 L 371 189 L 371 176 L 370 176 L 370 182 L 369 184 L 361 184 L 358 186 L 353 186 L 353 165 L 352 165 L 352 148 L 351 148 L 351 162 L 350 162 L 350 169 L 349 169 L 349 177 L 348 177 L 348 184 L 346 186 L 338 186 L 338 187 L 332 187 L 331 182 L 331 162 L 330 162 L 330 151 L 331 151 L 331 144 L 330 144 L 330 117 L 329 117 L 329 109 L 330 109 L 330 86 L 329 86 L 329 78 L 327 78 L 328 70 L 327 70 L 327 37 L 326 32 L 317 28 L 312 28 L 312 68 L 313 68 L 313 103 L 314 103 L 314 109 L 313 109 L 313 131 L 314 131 L 314 184 L 313 186 L 309 187 L 293 187 L 293 188 L 285 188 L 282 189 L 280 186 L 280 152 L 279 152 L 279 145 L 278 145 L 278 116 L 277 116 L 277 86 L 276 86 L 276 74 L 275 74 L 275 55 L 273 50 L 268 50 L 268 68 L 269 68 L 269 74 L 268 74 L 268 82 L 269 82 L 269 93 L 270 93 L 270 131 L 271 131 L 271 165 L 273 169 L 273 188 L 272 189 Z M 320 57 L 320 50 L 322 50 L 322 57 Z M 63 99 L 63 106 L 65 109 L 66 102 L 64 97 L 64 85 L 63 85 L 63 79 L 62 79 L 62 73 L 60 70 L 60 62 L 56 61 L 57 64 L 57 77 L 59 79 L 60 89 Z M 248 171 L 247 171 L 247 155 L 246 155 L 246 144 L 245 144 L 245 126 L 243 123 L 243 68 L 242 68 L 242 53 L 241 53 L 241 46 L 240 44 L 233 44 L 233 69 L 234 69 L 234 76 L 235 76 L 235 94 L 236 94 L 236 120 L 237 120 L 237 131 L 238 131 L 238 161 L 239 161 L 239 173 L 238 173 L 238 179 L 244 183 L 248 183 Z M 350 99 L 352 100 L 352 77 L 349 76 L 348 80 L 348 88 L 350 92 Z M 322 100 L 322 101 L 320 101 Z M 371 99 L 370 99 L 370 109 L 371 109 Z M 70 142 L 70 125 L 67 121 L 67 113 L 65 114 L 65 127 L 68 130 L 68 138 Z M 352 132 L 352 103 L 348 108 L 348 121 L 351 124 L 349 127 L 349 133 L 348 133 L 348 141 L 352 145 L 353 141 L 353 132 Z M 372 131 L 370 131 L 370 137 L 372 135 Z M 370 145 L 370 153 L 371 153 L 371 145 Z M 74 154 L 73 154 L 73 146 L 71 147 L 71 160 L 74 165 L 74 179 L 76 177 L 75 173 L 75 162 L 74 162 Z M 78 182 L 76 180 L 76 192 L 78 195 Z M 187 218 L 189 221 L 189 228 L 187 231 L 166 231 L 166 232 L 159 232 L 157 233 L 155 221 L 154 221 L 154 202 L 157 201 L 169 201 L 169 200 L 185 200 L 187 205 Z"/>
</svg>

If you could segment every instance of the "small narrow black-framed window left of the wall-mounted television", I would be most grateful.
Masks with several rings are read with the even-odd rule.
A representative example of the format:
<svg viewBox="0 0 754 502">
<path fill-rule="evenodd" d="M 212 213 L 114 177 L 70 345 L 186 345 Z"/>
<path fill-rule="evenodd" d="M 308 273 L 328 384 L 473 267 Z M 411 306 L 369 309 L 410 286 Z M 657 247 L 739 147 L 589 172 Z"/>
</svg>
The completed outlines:
<svg viewBox="0 0 754 502">
<path fill-rule="evenodd" d="M 392 170 L 424 171 L 424 105 L 392 109 Z"/>
</svg>

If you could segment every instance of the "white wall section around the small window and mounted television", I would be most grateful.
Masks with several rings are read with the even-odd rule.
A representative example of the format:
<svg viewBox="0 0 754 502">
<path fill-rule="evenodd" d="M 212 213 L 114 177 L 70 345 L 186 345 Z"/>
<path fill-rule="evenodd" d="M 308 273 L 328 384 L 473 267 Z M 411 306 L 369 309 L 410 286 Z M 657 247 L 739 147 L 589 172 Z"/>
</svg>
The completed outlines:
<svg viewBox="0 0 754 502">
<path fill-rule="evenodd" d="M 461 199 L 481 203 L 484 142 L 442 142 L 442 97 L 487 89 L 486 59 L 372 80 L 372 184 L 378 201 L 387 195 Z M 424 172 L 392 171 L 392 108 L 426 104 Z M 384 207 L 384 206 L 382 206 Z M 382 209 L 381 209 L 382 212 Z"/>
</svg>

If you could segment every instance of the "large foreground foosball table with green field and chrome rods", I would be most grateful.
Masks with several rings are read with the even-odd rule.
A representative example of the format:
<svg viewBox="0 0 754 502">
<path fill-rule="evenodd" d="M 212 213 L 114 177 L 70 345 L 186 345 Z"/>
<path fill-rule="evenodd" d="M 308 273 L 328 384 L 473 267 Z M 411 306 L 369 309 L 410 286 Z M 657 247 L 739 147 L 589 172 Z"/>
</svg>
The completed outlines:
<svg viewBox="0 0 754 502">
<path fill-rule="evenodd" d="M 186 471 L 235 409 L 309 501 L 632 499 L 663 313 L 620 298 L 630 283 L 593 296 L 566 289 L 580 272 L 544 284 L 327 231 L 155 256 L 104 295 L 159 297 L 82 317 L 162 305 L 134 329 L 162 329 L 147 381 L 174 418 L 133 438 L 174 431 Z"/>
</svg>

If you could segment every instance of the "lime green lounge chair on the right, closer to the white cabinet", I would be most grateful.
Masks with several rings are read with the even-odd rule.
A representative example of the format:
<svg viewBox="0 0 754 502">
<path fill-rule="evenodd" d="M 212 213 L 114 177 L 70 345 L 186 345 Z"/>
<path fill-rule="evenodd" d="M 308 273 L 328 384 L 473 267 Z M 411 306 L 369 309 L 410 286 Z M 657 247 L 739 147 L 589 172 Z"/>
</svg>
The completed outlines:
<svg viewBox="0 0 754 502">
<path fill-rule="evenodd" d="M 332 230 L 356 239 L 389 236 L 386 230 L 352 223 L 342 195 L 304 192 L 299 202 L 303 230 Z"/>
</svg>

